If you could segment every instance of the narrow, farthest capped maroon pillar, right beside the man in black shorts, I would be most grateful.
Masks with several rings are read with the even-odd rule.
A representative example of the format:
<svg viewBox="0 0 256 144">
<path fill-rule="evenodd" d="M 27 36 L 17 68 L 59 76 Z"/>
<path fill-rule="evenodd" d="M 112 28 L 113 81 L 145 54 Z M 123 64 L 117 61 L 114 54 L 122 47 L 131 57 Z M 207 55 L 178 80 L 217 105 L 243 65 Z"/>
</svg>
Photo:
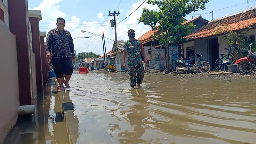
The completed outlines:
<svg viewBox="0 0 256 144">
<path fill-rule="evenodd" d="M 42 73 L 43 73 L 43 84 L 45 85 L 47 82 L 46 78 L 46 54 L 44 49 L 44 37 L 46 36 L 46 32 L 40 31 L 40 45 L 41 45 L 41 63 L 42 63 Z"/>
</svg>

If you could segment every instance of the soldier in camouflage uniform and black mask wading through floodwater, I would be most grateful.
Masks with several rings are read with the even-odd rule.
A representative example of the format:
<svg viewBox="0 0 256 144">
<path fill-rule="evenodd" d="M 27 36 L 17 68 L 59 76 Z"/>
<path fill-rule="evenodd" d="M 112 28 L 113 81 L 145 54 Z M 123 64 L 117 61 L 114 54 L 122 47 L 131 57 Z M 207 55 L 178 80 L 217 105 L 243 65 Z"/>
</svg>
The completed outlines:
<svg viewBox="0 0 256 144">
<path fill-rule="evenodd" d="M 133 29 L 128 30 L 128 36 L 130 37 L 129 40 L 124 42 L 123 47 L 123 67 L 126 67 L 125 64 L 125 56 L 126 52 L 128 55 L 128 74 L 130 75 L 131 79 L 131 87 L 134 88 L 136 86 L 140 87 L 142 84 L 143 77 L 144 77 L 144 68 L 142 64 L 142 59 L 140 56 L 140 52 L 144 58 L 144 62 L 147 62 L 146 54 L 144 51 L 144 47 L 141 44 L 140 40 L 135 39 L 135 31 Z M 136 76 L 137 73 L 137 76 Z"/>
</svg>

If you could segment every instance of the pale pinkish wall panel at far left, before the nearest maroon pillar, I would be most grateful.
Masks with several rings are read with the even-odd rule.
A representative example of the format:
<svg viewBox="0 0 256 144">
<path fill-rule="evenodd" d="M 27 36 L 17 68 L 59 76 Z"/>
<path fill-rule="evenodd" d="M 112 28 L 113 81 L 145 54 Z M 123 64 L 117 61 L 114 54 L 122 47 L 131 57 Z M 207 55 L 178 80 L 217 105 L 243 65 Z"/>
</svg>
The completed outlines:
<svg viewBox="0 0 256 144">
<path fill-rule="evenodd" d="M 16 38 L 0 24 L 0 143 L 16 123 L 19 107 L 19 78 Z"/>
</svg>

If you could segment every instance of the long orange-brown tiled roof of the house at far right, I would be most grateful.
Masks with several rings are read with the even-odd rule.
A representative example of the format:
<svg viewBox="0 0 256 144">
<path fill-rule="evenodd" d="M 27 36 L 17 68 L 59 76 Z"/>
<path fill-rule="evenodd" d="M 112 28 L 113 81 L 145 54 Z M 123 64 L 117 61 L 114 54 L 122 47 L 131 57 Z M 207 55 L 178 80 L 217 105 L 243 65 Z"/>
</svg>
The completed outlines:
<svg viewBox="0 0 256 144">
<path fill-rule="evenodd" d="M 236 31 L 251 27 L 256 24 L 256 7 L 248 8 L 241 12 L 236 12 L 225 17 L 212 20 L 201 28 L 198 28 L 190 35 L 186 36 L 186 40 L 194 40 L 208 36 L 216 35 L 217 28 L 221 27 L 222 32 Z M 225 28 L 227 25 L 227 29 Z"/>
</svg>

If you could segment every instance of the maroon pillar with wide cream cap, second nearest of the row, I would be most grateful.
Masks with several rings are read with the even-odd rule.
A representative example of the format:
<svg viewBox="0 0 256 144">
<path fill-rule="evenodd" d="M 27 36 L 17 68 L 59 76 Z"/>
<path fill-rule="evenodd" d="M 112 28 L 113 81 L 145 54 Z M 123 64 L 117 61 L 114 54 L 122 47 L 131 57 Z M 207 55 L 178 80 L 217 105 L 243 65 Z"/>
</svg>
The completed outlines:
<svg viewBox="0 0 256 144">
<path fill-rule="evenodd" d="M 39 34 L 39 21 L 42 20 L 41 11 L 28 10 L 28 17 L 32 29 L 32 48 L 36 55 L 36 88 L 37 92 L 43 92 L 43 74 L 41 61 L 41 43 Z"/>
</svg>

